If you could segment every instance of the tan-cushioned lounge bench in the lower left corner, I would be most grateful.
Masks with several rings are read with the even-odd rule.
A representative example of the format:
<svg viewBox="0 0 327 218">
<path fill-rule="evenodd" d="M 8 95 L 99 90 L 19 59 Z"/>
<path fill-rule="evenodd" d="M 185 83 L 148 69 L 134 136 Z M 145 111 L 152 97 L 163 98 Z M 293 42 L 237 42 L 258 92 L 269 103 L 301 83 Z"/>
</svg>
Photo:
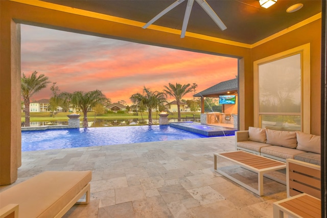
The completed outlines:
<svg viewBox="0 0 327 218">
<path fill-rule="evenodd" d="M 0 193 L 0 217 L 62 217 L 75 203 L 89 203 L 90 181 L 90 171 L 40 173 Z"/>
</svg>

